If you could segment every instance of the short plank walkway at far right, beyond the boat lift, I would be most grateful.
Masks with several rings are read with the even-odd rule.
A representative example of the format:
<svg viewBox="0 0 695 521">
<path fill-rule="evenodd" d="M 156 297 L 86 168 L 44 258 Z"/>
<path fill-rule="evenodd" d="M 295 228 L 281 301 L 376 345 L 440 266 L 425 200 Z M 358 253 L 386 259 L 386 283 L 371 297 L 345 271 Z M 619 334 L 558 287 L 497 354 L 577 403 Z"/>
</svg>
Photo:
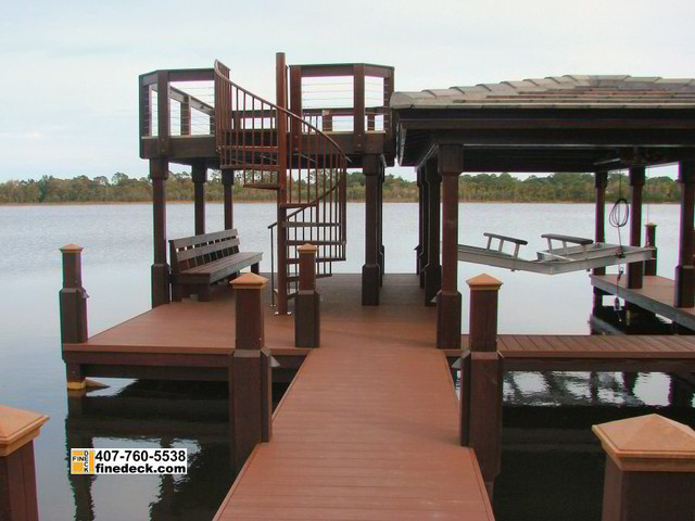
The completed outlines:
<svg viewBox="0 0 695 521">
<path fill-rule="evenodd" d="M 673 306 L 674 283 L 672 279 L 645 276 L 641 289 L 629 290 L 626 288 L 627 277 L 624 276 L 619 283 L 617 283 L 618 277 L 616 275 L 592 275 L 590 277 L 594 287 L 695 330 L 695 307 Z"/>
</svg>

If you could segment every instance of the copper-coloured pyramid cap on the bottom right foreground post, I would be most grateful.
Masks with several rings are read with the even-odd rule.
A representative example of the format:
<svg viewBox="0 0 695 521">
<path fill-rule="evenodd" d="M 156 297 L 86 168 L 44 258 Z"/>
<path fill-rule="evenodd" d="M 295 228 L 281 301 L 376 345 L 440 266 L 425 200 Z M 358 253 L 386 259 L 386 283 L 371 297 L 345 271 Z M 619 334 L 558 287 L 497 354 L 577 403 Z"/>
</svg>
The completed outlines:
<svg viewBox="0 0 695 521">
<path fill-rule="evenodd" d="M 695 431 L 659 415 L 592 427 L 604 450 L 628 471 L 695 472 Z"/>
</svg>

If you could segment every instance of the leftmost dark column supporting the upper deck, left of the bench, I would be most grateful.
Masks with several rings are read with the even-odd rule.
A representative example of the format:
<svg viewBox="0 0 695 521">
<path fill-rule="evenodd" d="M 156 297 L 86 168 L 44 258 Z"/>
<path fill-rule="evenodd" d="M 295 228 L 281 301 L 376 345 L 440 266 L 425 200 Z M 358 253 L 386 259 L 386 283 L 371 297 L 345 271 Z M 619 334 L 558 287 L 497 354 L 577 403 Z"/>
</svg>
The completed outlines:
<svg viewBox="0 0 695 521">
<path fill-rule="evenodd" d="M 152 180 L 152 223 L 154 263 L 152 264 L 152 307 L 170 302 L 169 265 L 166 263 L 166 192 L 169 177 L 166 158 L 150 160 Z"/>
</svg>

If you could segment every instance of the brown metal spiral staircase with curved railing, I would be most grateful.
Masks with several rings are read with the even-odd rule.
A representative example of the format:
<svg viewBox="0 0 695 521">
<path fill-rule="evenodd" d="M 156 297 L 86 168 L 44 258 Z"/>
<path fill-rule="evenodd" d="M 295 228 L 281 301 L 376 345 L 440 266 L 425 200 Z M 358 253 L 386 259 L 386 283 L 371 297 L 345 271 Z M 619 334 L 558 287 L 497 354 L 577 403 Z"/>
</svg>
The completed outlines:
<svg viewBox="0 0 695 521">
<path fill-rule="evenodd" d="M 298 291 L 298 246 L 318 247 L 316 276 L 329 277 L 345 259 L 345 166 L 340 147 L 321 130 L 287 110 L 288 69 L 278 63 L 277 103 L 230 80 L 215 62 L 215 139 L 219 167 L 233 170 L 245 188 L 277 192 L 271 224 L 273 292 L 277 313 L 288 312 Z M 277 253 L 276 253 L 277 252 Z"/>
</svg>

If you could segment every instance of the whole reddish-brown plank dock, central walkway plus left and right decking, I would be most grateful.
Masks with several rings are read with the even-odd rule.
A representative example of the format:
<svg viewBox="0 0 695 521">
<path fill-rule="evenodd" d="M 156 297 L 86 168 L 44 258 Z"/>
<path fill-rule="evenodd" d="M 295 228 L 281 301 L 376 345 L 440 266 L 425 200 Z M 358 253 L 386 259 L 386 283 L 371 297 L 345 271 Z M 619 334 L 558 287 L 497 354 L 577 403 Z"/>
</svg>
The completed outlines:
<svg viewBox="0 0 695 521">
<path fill-rule="evenodd" d="M 265 306 L 274 379 L 300 369 L 217 519 L 493 519 L 459 445 L 450 364 L 462 352 L 434 347 L 437 309 L 422 306 L 418 278 L 389 275 L 378 307 L 361 305 L 358 275 L 319 282 L 319 348 L 293 347 L 293 316 Z M 497 339 L 505 370 L 695 371 L 695 336 Z M 64 344 L 63 356 L 91 377 L 228 380 L 233 343 L 235 296 L 219 287 L 211 302 L 162 305 Z"/>
</svg>

